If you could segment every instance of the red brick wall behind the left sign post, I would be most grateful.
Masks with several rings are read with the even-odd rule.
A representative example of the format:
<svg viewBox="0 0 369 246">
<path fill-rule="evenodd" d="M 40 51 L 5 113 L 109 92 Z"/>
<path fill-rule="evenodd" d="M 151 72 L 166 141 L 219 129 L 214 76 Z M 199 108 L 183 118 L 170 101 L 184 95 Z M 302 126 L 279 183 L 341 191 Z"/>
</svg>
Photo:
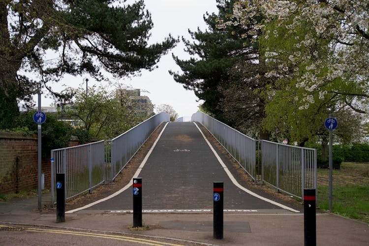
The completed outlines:
<svg viewBox="0 0 369 246">
<path fill-rule="evenodd" d="M 45 188 L 50 188 L 50 157 L 42 161 Z M 37 188 L 37 137 L 0 132 L 0 193 Z"/>
</svg>

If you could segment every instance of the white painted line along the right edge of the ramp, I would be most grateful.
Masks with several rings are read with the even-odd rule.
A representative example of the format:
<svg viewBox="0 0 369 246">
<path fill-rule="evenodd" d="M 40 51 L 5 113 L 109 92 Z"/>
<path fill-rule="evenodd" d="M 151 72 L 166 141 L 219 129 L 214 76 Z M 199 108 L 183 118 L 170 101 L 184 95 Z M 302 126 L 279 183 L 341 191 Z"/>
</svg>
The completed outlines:
<svg viewBox="0 0 369 246">
<path fill-rule="evenodd" d="M 232 181 L 232 183 L 233 183 L 234 185 L 236 185 L 237 187 L 239 187 L 240 189 L 242 189 L 242 190 L 243 190 L 243 191 L 245 191 L 246 193 L 248 193 L 248 194 L 250 194 L 250 195 L 252 195 L 252 196 L 254 196 L 254 197 L 257 197 L 257 198 L 259 198 L 259 199 L 261 199 L 261 200 L 263 200 L 263 201 L 265 201 L 265 202 L 269 202 L 269 203 L 271 203 L 271 204 L 273 204 L 273 205 L 276 205 L 276 206 L 278 206 L 278 207 L 280 207 L 280 208 L 282 208 L 282 209 L 286 209 L 286 210 L 289 210 L 289 211 L 294 212 L 294 213 L 300 213 L 300 211 L 298 211 L 298 210 L 295 210 L 295 209 L 293 209 L 293 208 L 287 207 L 287 206 L 285 206 L 285 205 L 283 205 L 283 204 L 277 203 L 277 202 L 272 201 L 272 200 L 270 200 L 270 199 L 268 199 L 268 198 L 265 198 L 265 197 L 263 197 L 263 196 L 260 196 L 260 195 L 258 195 L 258 194 L 256 194 L 256 193 L 252 192 L 251 190 L 246 189 L 246 188 L 245 188 L 244 186 L 242 186 L 241 184 L 239 184 L 239 183 L 237 182 L 237 180 L 233 177 L 232 173 L 228 170 L 227 166 L 224 164 L 224 162 L 222 161 L 222 159 L 221 159 L 221 158 L 219 157 L 219 155 L 216 153 L 216 151 L 214 150 L 213 146 L 210 144 L 209 140 L 205 137 L 205 135 L 204 135 L 204 133 L 201 131 L 201 129 L 198 127 L 198 125 L 197 125 L 196 123 L 194 123 L 194 124 L 196 125 L 197 129 L 199 129 L 199 131 L 200 131 L 201 135 L 202 135 L 202 136 L 203 136 L 203 138 L 205 139 L 206 143 L 209 145 L 209 147 L 210 147 L 210 149 L 212 150 L 212 152 L 214 153 L 214 155 L 215 155 L 216 159 L 219 161 L 220 165 L 223 167 L 224 171 L 226 172 L 226 174 L 228 175 L 229 179 Z"/>
</svg>

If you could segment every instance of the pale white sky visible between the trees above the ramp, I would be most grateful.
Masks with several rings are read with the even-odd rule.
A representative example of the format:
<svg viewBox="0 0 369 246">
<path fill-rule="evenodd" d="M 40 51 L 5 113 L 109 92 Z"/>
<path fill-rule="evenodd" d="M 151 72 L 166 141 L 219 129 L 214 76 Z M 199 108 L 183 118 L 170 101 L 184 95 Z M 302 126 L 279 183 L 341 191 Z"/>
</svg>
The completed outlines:
<svg viewBox="0 0 369 246">
<path fill-rule="evenodd" d="M 129 0 L 128 2 L 132 2 Z M 145 0 L 146 8 L 152 14 L 154 28 L 150 43 L 160 42 L 169 33 L 173 37 L 184 36 L 187 40 L 190 38 L 188 29 L 196 31 L 199 27 L 205 31 L 207 26 L 203 20 L 203 15 L 206 12 L 217 13 L 215 0 Z M 201 102 L 196 102 L 198 99 L 193 91 L 186 91 L 182 84 L 174 81 L 173 77 L 168 73 L 168 70 L 181 71 L 180 67 L 172 59 L 172 53 L 180 59 L 188 59 L 189 56 L 184 52 L 184 44 L 182 40 L 177 46 L 170 50 L 167 55 L 160 59 L 157 64 L 159 67 L 154 71 L 142 70 L 141 76 L 131 79 L 122 78 L 119 81 L 126 86 L 134 89 L 142 89 L 147 92 L 142 92 L 141 95 L 150 97 L 154 105 L 168 104 L 174 108 L 180 117 L 191 116 L 198 110 L 198 105 Z M 89 86 L 94 83 L 93 79 L 89 78 Z M 85 77 L 65 76 L 58 84 L 52 85 L 53 90 L 62 91 L 63 84 L 67 86 L 77 87 Z M 37 105 L 37 95 L 34 97 Z M 42 106 L 49 106 L 53 101 L 50 98 L 42 98 Z"/>
</svg>

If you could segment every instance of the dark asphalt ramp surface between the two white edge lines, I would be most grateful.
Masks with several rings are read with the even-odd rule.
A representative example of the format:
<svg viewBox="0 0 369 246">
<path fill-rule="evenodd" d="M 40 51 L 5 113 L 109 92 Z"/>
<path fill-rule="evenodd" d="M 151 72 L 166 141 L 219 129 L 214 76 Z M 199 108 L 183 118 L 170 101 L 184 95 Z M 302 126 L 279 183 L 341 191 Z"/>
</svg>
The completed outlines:
<svg viewBox="0 0 369 246">
<path fill-rule="evenodd" d="M 224 183 L 224 209 L 281 209 L 235 186 L 195 123 L 168 123 L 139 177 L 143 210 L 212 209 L 213 183 Z M 88 210 L 131 210 L 132 189 Z M 86 211 L 87 212 L 87 211 Z"/>
</svg>

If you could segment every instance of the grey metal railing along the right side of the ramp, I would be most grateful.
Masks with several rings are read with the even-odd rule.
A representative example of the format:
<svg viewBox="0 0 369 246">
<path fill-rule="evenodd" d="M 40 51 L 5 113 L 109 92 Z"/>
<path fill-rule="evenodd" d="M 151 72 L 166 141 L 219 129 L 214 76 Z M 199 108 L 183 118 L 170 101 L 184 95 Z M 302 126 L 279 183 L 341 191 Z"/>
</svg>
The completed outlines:
<svg viewBox="0 0 369 246">
<path fill-rule="evenodd" d="M 304 188 L 316 189 L 316 150 L 254 140 L 214 118 L 197 112 L 202 123 L 255 181 L 302 198 Z"/>
</svg>

